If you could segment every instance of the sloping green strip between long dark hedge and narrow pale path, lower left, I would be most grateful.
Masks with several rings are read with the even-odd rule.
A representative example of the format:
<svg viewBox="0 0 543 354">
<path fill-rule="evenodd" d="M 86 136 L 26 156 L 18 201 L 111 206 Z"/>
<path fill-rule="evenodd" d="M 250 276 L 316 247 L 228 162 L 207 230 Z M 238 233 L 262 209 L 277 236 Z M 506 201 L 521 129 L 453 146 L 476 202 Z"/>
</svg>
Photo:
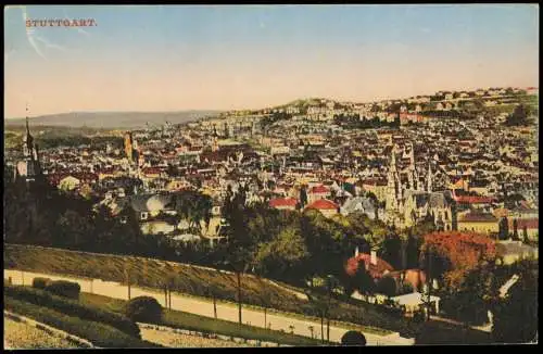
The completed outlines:
<svg viewBox="0 0 543 354">
<path fill-rule="evenodd" d="M 84 338 L 101 347 L 159 347 L 154 343 L 128 336 L 105 324 L 83 320 L 58 311 L 4 296 L 4 307 L 71 334 Z"/>
</svg>

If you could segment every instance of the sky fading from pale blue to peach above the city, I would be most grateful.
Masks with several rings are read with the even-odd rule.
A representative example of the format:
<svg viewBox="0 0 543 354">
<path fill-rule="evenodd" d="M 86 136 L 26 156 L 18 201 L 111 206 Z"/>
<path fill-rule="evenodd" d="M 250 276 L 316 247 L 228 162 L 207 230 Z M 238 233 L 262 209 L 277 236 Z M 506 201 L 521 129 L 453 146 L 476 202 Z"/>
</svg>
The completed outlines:
<svg viewBox="0 0 543 354">
<path fill-rule="evenodd" d="M 4 8 L 4 117 L 262 109 L 438 90 L 539 87 L 539 8 Z M 93 18 L 96 26 L 26 27 Z"/>
</svg>

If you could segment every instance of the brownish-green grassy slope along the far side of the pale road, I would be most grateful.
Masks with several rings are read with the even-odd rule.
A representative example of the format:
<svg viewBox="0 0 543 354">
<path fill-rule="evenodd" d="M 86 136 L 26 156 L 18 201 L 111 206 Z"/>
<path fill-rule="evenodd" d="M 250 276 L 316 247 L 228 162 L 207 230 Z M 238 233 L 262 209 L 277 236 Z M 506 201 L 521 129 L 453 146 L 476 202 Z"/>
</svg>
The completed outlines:
<svg viewBox="0 0 543 354">
<path fill-rule="evenodd" d="M 176 277 L 175 291 L 209 296 L 206 290 L 210 285 L 217 288 L 217 299 L 235 301 L 236 277 L 231 274 L 219 273 L 213 269 L 202 269 L 191 265 L 164 262 L 160 260 L 128 257 L 106 254 L 91 254 L 70 252 L 61 249 L 45 249 L 29 245 L 4 244 L 4 268 L 16 268 L 29 271 L 65 274 L 79 277 L 101 278 L 106 281 L 123 281 L 124 266 L 131 267 L 132 283 L 139 287 L 162 288 L 162 282 L 172 274 Z M 253 305 L 263 305 L 264 289 L 272 294 L 272 306 L 285 312 L 306 315 L 310 304 L 298 299 L 292 293 L 256 277 L 242 277 L 242 299 Z M 481 343 L 488 342 L 484 333 L 475 330 L 464 330 L 451 327 L 443 323 L 415 324 L 405 318 L 396 318 L 378 312 L 370 304 L 363 302 L 339 303 L 332 308 L 331 317 L 369 326 L 399 331 L 403 337 L 415 337 L 417 343 L 432 343 L 434 338 L 447 338 L 462 341 L 446 341 L 447 343 Z M 375 330 L 374 330 L 375 331 Z M 490 339 L 489 339 L 490 340 Z"/>
</svg>

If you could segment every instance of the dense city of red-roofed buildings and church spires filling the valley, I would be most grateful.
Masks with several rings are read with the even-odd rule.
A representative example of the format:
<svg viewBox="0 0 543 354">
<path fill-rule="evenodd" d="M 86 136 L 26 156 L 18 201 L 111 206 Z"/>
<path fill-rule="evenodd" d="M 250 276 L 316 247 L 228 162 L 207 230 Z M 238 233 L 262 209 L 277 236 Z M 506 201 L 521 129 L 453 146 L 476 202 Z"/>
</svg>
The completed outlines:
<svg viewBox="0 0 543 354">
<path fill-rule="evenodd" d="M 299 100 L 128 131 L 123 147 L 105 149 L 38 152 L 27 126 L 23 155 L 12 153 L 8 163 L 15 176 L 43 174 L 113 214 L 131 205 L 146 233 L 186 235 L 187 223 L 168 217 L 171 195 L 194 190 L 211 197 L 213 217 L 192 238 L 219 237 L 227 190 L 243 188 L 247 203 L 276 208 L 330 217 L 358 211 L 399 228 L 429 219 L 438 229 L 490 235 L 507 223 L 536 239 L 536 127 L 508 126 L 510 113 L 503 113 L 536 93 L 503 88 L 365 104 Z"/>
</svg>

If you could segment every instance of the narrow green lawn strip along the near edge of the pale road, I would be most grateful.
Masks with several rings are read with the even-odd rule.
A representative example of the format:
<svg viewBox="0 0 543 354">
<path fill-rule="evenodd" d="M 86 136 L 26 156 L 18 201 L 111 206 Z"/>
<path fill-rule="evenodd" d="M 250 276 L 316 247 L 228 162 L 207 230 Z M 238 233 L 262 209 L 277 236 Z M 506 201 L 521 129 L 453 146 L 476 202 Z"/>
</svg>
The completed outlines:
<svg viewBox="0 0 543 354">
<path fill-rule="evenodd" d="M 100 306 L 104 309 L 117 313 L 123 313 L 123 308 L 126 304 L 125 300 L 112 299 L 90 293 L 81 293 L 79 301 L 86 305 Z M 319 340 L 303 336 L 283 333 L 281 331 L 248 325 L 239 325 L 228 320 L 215 319 L 168 308 L 164 308 L 163 319 L 160 325 L 205 333 L 216 333 L 288 345 L 321 345 Z"/>
</svg>

